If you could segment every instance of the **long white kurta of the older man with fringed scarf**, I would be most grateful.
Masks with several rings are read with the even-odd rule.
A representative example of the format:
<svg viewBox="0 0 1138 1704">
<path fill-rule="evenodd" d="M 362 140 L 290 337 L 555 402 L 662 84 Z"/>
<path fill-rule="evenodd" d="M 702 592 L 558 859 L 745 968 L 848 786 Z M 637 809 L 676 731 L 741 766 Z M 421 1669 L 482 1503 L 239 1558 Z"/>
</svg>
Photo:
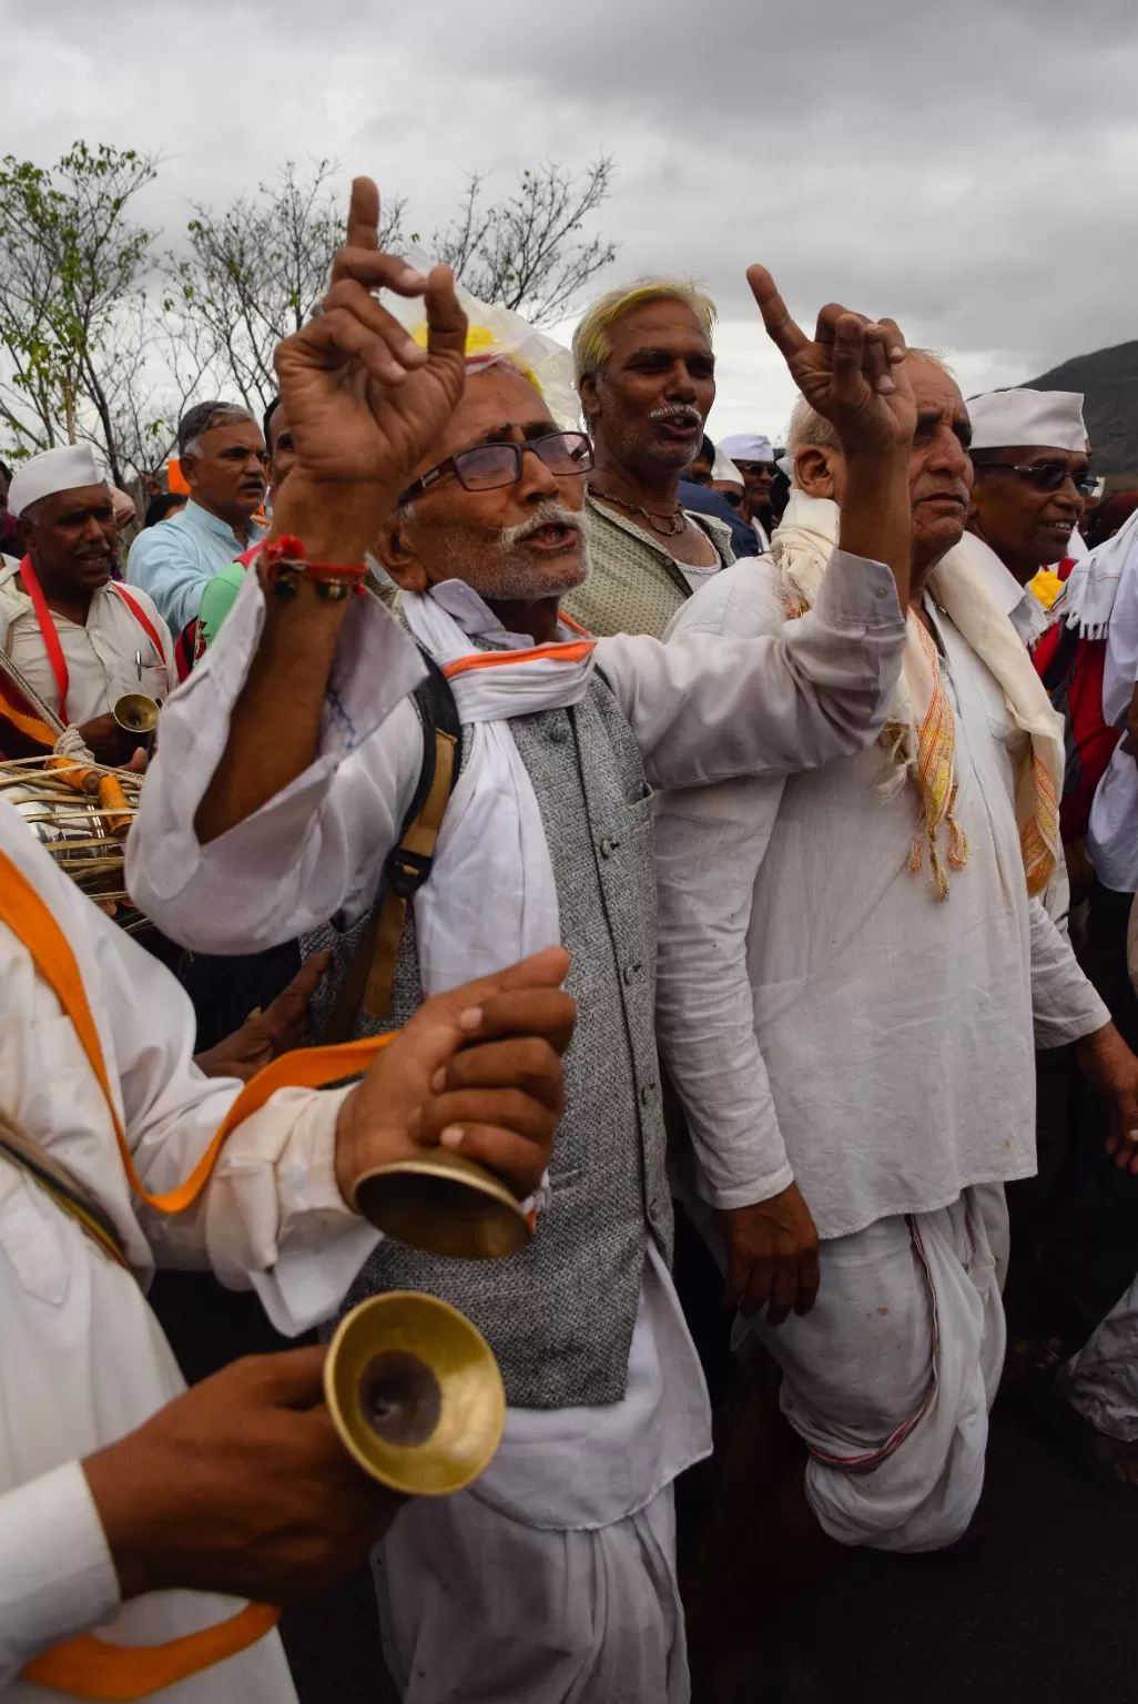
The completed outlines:
<svg viewBox="0 0 1138 1704">
<path fill-rule="evenodd" d="M 969 843 L 947 903 L 927 849 L 910 871 L 917 791 L 876 791 L 881 745 L 658 811 L 659 1036 L 700 1193 L 746 1206 L 797 1181 L 823 1237 L 1034 1172 L 1032 1019 L 1046 1048 L 1109 1016 L 1027 898 L 1003 694 L 934 619 Z M 784 620 L 763 559 L 692 598 L 673 642 Z"/>
</svg>

